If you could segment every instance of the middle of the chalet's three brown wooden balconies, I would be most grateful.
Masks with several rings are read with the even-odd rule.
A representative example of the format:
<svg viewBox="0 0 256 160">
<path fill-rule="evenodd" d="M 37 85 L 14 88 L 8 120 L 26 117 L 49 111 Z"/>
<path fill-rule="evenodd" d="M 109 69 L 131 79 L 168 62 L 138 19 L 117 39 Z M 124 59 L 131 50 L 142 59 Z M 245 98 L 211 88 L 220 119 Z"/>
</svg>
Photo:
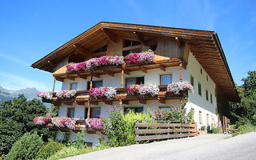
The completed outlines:
<svg viewBox="0 0 256 160">
<path fill-rule="evenodd" d="M 79 90 L 75 94 L 74 98 L 58 98 L 56 93 L 54 93 L 53 98 L 51 100 L 42 98 L 42 102 L 50 102 L 53 103 L 54 106 L 61 106 L 61 104 L 65 104 L 68 106 L 72 106 L 73 102 L 78 105 L 85 106 L 86 102 L 90 101 L 93 105 L 98 105 L 98 102 L 105 102 L 107 105 L 112 105 L 114 101 L 122 101 L 123 104 L 129 104 L 130 101 L 139 101 L 142 104 L 146 104 L 147 101 L 150 100 L 158 100 L 159 102 L 166 104 L 166 100 L 168 99 L 180 99 L 186 98 L 188 95 L 187 91 L 182 91 L 180 94 L 169 94 L 166 93 L 167 86 L 158 86 L 160 91 L 157 96 L 145 96 L 141 97 L 140 95 L 130 95 L 127 93 L 126 88 L 117 88 L 117 94 L 114 99 L 93 99 L 90 98 L 89 90 Z"/>
</svg>

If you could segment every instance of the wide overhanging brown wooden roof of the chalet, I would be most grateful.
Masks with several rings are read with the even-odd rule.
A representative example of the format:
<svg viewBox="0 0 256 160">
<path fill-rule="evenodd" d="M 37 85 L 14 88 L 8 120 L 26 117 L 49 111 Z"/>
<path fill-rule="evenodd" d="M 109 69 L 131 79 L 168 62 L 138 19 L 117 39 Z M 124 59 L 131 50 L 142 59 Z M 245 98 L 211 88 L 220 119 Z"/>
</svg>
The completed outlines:
<svg viewBox="0 0 256 160">
<path fill-rule="evenodd" d="M 44 58 L 34 62 L 32 67 L 53 72 L 51 62 L 70 53 L 70 51 L 74 50 L 74 45 L 86 45 L 86 42 L 94 41 L 94 38 L 98 38 L 99 35 L 102 35 L 101 37 L 104 38 L 104 35 L 106 35 L 105 30 L 110 30 L 111 32 L 138 32 L 145 36 L 154 35 L 156 37 L 178 38 L 183 42 L 187 42 L 191 52 L 206 70 L 207 74 L 210 75 L 210 78 L 228 95 L 231 101 L 239 101 L 238 93 L 234 86 L 234 80 L 218 39 L 218 34 L 209 30 L 190 30 L 118 22 L 99 22 L 89 30 L 86 30 L 69 42 L 58 47 L 58 49 L 52 51 L 50 54 L 47 54 Z"/>
</svg>

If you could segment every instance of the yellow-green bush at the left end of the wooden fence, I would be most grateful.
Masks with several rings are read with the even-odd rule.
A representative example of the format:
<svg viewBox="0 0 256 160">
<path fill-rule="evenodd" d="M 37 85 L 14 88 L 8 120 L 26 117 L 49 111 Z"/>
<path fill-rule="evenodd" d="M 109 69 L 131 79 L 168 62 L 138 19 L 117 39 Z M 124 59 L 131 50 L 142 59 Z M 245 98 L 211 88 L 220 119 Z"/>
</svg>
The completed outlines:
<svg viewBox="0 0 256 160">
<path fill-rule="evenodd" d="M 132 145 L 134 144 L 135 139 L 135 122 L 136 119 L 141 120 L 152 120 L 150 114 L 134 113 L 134 111 L 130 111 L 127 114 L 122 114 L 122 121 L 124 126 L 124 131 L 126 133 L 126 144 Z"/>
</svg>

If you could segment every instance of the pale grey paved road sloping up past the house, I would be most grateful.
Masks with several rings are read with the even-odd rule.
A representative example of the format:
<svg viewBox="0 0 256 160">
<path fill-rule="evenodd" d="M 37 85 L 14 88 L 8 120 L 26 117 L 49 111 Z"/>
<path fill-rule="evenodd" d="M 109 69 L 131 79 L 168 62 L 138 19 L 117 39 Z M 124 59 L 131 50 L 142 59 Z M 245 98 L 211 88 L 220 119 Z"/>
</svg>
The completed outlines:
<svg viewBox="0 0 256 160">
<path fill-rule="evenodd" d="M 225 134 L 198 135 L 82 154 L 65 160 L 172 160 L 172 159 L 256 159 L 256 133 L 227 138 Z M 226 139 L 225 139 L 226 138 Z"/>
</svg>

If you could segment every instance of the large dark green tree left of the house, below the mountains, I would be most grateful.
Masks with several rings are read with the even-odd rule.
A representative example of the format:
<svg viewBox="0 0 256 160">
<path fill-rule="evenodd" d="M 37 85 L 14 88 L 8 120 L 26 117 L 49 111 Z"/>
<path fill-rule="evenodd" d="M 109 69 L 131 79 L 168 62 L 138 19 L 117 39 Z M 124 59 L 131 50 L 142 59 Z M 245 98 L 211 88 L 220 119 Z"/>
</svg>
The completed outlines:
<svg viewBox="0 0 256 160">
<path fill-rule="evenodd" d="M 19 95 L 12 101 L 0 104 L 0 154 L 7 154 L 10 147 L 26 132 L 36 131 L 43 135 L 42 139 L 47 142 L 48 138 L 55 133 L 50 133 L 46 128 L 36 126 L 33 122 L 34 117 L 45 115 L 46 106 L 37 99 L 27 101 L 24 95 Z"/>
</svg>

